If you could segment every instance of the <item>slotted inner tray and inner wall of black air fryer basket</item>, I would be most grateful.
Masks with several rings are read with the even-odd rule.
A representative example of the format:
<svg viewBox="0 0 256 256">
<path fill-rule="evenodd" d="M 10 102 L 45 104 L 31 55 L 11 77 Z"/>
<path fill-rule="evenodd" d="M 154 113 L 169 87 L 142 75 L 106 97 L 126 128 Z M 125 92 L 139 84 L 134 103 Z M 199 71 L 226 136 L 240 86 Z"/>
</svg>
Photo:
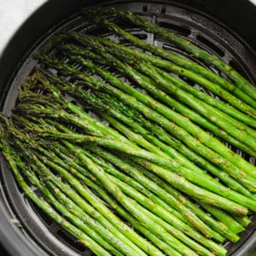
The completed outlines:
<svg viewBox="0 0 256 256">
<path fill-rule="evenodd" d="M 227 63 L 230 63 L 232 67 L 235 67 L 236 70 L 242 73 L 249 81 L 256 84 L 256 56 L 254 55 L 253 49 L 237 36 L 235 32 L 232 32 L 230 28 L 220 24 L 212 17 L 190 9 L 185 5 L 177 6 L 177 4 L 170 1 L 111 1 L 104 2 L 103 5 L 111 5 L 119 9 L 130 10 L 139 15 L 143 15 L 152 22 L 160 24 L 160 26 L 166 27 L 166 29 L 172 32 L 177 32 L 183 37 L 189 38 L 189 40 L 195 42 L 195 44 L 200 45 L 202 48 L 212 52 L 212 54 L 218 55 L 218 57 Z M 137 35 L 138 38 L 147 41 L 149 44 L 160 46 L 180 55 L 184 54 L 162 38 L 143 32 L 141 29 L 131 26 L 131 24 L 119 23 L 119 25 L 125 27 L 125 29 Z M 90 34 L 112 38 L 120 44 L 127 44 L 124 39 L 117 38 L 112 33 L 98 26 L 89 24 L 79 12 L 62 20 L 55 26 L 49 27 L 48 32 L 41 35 L 38 41 L 33 44 L 26 52 L 26 55 L 23 56 L 20 65 L 15 68 L 14 76 L 9 79 L 9 84 L 5 86 L 1 99 L 4 113 L 10 115 L 12 108 L 15 107 L 18 86 L 32 73 L 33 68 L 38 65 L 37 61 L 35 61 L 32 56 L 40 53 L 42 45 L 56 33 L 70 30 L 90 32 Z M 187 56 L 192 58 L 189 55 Z M 213 72 L 218 73 L 213 67 L 209 68 Z M 192 81 L 187 80 L 187 82 L 193 86 L 199 87 L 199 85 Z M 201 87 L 199 88 L 203 90 Z M 1 88 L 1 90 L 3 92 L 3 88 Z M 209 92 L 207 91 L 207 93 Z M 255 164 L 255 160 L 250 158 L 247 154 L 241 153 L 240 150 L 236 150 L 236 152 Z M 12 230 L 8 232 L 14 232 L 13 237 L 15 237 L 15 239 L 19 236 L 18 239 L 25 240 L 21 243 L 26 242 L 26 247 L 34 248 L 35 251 L 32 255 L 44 255 L 44 253 L 53 255 L 92 255 L 85 247 L 74 241 L 73 237 L 67 234 L 65 230 L 62 230 L 59 225 L 45 216 L 31 201 L 26 199 L 22 191 L 16 186 L 15 180 L 11 172 L 9 172 L 4 160 L 1 160 L 0 172 L 0 189 L 2 194 L 0 200 L 5 209 L 4 214 L 2 212 L 0 213 L 1 215 L 8 215 L 11 222 L 19 227 L 22 236 L 17 235 L 15 231 Z M 3 218 L 5 217 L 3 216 Z M 254 217 L 252 218 L 253 223 L 250 224 L 247 230 L 241 233 L 241 241 L 236 245 L 230 242 L 225 243 L 225 247 L 229 249 L 230 255 L 246 255 L 248 248 L 253 246 L 256 240 L 255 234 L 253 234 L 256 230 L 256 219 Z M 0 221 L 2 221 L 2 219 Z M 5 222 L 3 223 L 3 226 L 5 226 Z M 5 228 L 11 229 L 8 225 L 9 224 L 6 223 Z M 4 237 L 5 236 L 3 236 L 3 238 Z M 7 245 L 10 245 L 10 241 L 6 242 Z M 20 246 L 22 248 L 22 245 Z M 15 247 L 11 248 L 11 250 L 14 249 Z M 14 252 L 15 251 L 13 251 L 13 253 Z M 20 249 L 20 255 L 23 255 L 22 249 Z M 30 254 L 24 253 L 24 255 Z"/>
</svg>

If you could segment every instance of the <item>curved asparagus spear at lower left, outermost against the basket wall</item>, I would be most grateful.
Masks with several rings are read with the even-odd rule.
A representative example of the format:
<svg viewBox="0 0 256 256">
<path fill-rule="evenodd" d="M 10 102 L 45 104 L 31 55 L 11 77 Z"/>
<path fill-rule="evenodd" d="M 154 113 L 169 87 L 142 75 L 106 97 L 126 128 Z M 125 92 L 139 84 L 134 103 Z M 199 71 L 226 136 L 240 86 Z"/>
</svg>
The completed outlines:
<svg viewBox="0 0 256 256">
<path fill-rule="evenodd" d="M 86 235 L 83 231 L 76 228 L 73 224 L 70 224 L 67 219 L 62 218 L 61 215 L 55 212 L 55 209 L 51 207 L 46 201 L 39 198 L 32 189 L 27 185 L 24 178 L 20 175 L 19 169 L 16 163 L 22 165 L 19 157 L 15 152 L 9 147 L 9 144 L 6 142 L 3 134 L 3 127 L 1 127 L 1 151 L 8 162 L 10 170 L 15 176 L 15 180 L 19 183 L 20 188 L 24 191 L 25 195 L 30 198 L 45 214 L 50 218 L 54 219 L 56 223 L 60 224 L 65 230 L 70 232 L 73 236 L 79 239 L 79 242 L 85 247 L 89 247 L 90 250 L 96 255 L 109 255 L 108 251 L 102 248 L 96 241 Z M 22 165 L 23 166 L 23 165 Z"/>
</svg>

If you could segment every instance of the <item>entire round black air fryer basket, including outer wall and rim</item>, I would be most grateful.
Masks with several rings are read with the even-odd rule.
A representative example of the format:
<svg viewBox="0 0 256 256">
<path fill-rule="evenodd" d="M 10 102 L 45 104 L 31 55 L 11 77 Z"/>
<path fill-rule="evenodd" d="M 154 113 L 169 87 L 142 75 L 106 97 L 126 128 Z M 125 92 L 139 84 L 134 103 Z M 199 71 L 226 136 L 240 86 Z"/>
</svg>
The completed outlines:
<svg viewBox="0 0 256 256">
<path fill-rule="evenodd" d="M 20 28 L 3 52 L 0 60 L 0 70 L 2 71 L 0 90 L 1 108 L 4 113 L 11 113 L 12 108 L 15 107 L 18 86 L 37 66 L 37 61 L 32 58 L 32 55 L 40 53 L 42 45 L 56 33 L 70 30 L 90 31 L 93 34 L 116 39 L 113 34 L 105 32 L 97 26 L 90 26 L 84 21 L 83 15 L 79 12 L 85 5 L 84 1 L 83 3 L 82 1 L 61 3 L 58 1 L 45 3 Z M 91 4 L 91 1 L 87 1 L 87 3 Z M 236 11 L 232 12 L 227 9 L 227 6 L 224 6 L 229 3 L 233 4 L 233 8 L 241 4 L 239 17 L 236 16 Z M 235 7 L 234 4 L 236 4 Z M 247 26 L 248 20 L 253 22 L 254 19 L 253 25 L 256 24 L 256 10 L 246 1 L 236 1 L 236 3 L 232 1 L 178 1 L 178 3 L 174 1 L 104 1 L 102 5 L 130 10 L 145 16 L 152 22 L 159 23 L 172 32 L 189 38 L 201 48 L 207 49 L 230 63 L 230 66 L 235 67 L 248 80 L 256 84 L 256 55 L 253 47 L 244 40 L 244 38 L 247 39 L 256 48 L 256 32 L 251 32 Z M 220 6 L 224 6 L 223 9 Z M 215 13 L 217 10 L 218 16 Z M 241 17 L 244 11 L 247 12 L 245 20 Z M 225 16 L 227 14 L 230 20 Z M 241 23 L 237 24 L 239 20 Z M 251 29 L 253 29 L 253 25 L 250 26 Z M 123 24 L 123 26 L 149 44 L 155 44 L 183 55 L 182 51 L 176 49 L 172 44 L 168 44 L 162 38 L 154 37 L 131 25 Z M 239 33 L 230 26 L 236 27 Z M 119 43 L 125 44 L 126 42 L 119 38 Z M 213 72 L 218 73 L 213 67 L 210 68 Z M 191 81 L 188 82 L 198 86 L 192 84 Z M 203 89 L 201 88 L 201 90 Z M 236 152 L 254 164 L 253 158 L 241 153 L 240 150 L 236 150 Z M 9 250 L 9 253 L 26 256 L 92 255 L 59 225 L 47 218 L 31 201 L 27 201 L 22 191 L 16 186 L 15 180 L 3 160 L 1 160 L 0 177 L 0 221 L 2 224 L 0 242 Z M 241 241 L 236 245 L 229 242 L 224 244 L 229 250 L 229 254 L 247 255 L 249 250 L 254 245 L 256 246 L 255 229 L 256 221 L 253 218 L 253 223 L 241 233 Z"/>
</svg>

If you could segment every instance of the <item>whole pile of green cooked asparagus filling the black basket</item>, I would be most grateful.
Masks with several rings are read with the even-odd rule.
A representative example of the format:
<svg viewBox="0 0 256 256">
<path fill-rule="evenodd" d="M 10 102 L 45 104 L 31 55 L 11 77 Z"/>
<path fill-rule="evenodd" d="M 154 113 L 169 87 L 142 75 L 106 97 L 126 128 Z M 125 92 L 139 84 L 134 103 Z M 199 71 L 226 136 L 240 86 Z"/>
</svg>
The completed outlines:
<svg viewBox="0 0 256 256">
<path fill-rule="evenodd" d="M 143 42 L 116 18 L 230 80 Z M 133 45 L 67 32 L 44 46 L 58 58 L 36 56 L 11 120 L 0 116 L 0 147 L 17 183 L 96 255 L 225 255 L 222 243 L 239 241 L 256 212 L 256 169 L 224 144 L 256 156 L 256 90 L 216 56 L 137 15 L 87 9 L 86 19 Z"/>
</svg>

